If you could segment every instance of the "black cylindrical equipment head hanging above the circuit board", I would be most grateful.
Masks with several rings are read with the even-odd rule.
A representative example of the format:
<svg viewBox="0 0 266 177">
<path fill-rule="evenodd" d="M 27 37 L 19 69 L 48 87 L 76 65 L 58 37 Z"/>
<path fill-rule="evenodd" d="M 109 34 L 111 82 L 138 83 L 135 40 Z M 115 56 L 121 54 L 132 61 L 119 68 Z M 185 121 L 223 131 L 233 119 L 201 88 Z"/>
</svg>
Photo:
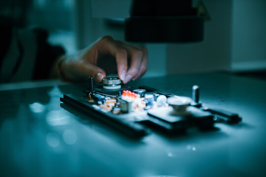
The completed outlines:
<svg viewBox="0 0 266 177">
<path fill-rule="evenodd" d="M 132 42 L 198 42 L 204 19 L 190 0 L 134 0 L 125 20 L 125 40 Z"/>
</svg>

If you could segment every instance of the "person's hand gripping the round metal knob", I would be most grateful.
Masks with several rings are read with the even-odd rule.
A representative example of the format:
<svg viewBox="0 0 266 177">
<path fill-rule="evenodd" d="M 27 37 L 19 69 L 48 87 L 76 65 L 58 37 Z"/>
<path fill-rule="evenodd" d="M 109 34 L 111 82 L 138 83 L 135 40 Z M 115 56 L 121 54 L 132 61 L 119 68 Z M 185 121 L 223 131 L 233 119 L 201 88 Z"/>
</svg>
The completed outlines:
<svg viewBox="0 0 266 177">
<path fill-rule="evenodd" d="M 108 61 L 110 57 L 115 59 L 118 77 L 124 84 L 131 79 L 141 78 L 147 71 L 147 48 L 138 48 L 114 40 L 111 36 L 103 36 L 77 54 L 59 59 L 56 63 L 57 75 L 72 81 L 85 80 L 88 76 L 92 76 L 100 83 L 106 77 L 105 69 L 111 68 L 115 71 L 115 66 L 108 65 L 105 68 L 97 66 L 100 61 Z"/>
</svg>

